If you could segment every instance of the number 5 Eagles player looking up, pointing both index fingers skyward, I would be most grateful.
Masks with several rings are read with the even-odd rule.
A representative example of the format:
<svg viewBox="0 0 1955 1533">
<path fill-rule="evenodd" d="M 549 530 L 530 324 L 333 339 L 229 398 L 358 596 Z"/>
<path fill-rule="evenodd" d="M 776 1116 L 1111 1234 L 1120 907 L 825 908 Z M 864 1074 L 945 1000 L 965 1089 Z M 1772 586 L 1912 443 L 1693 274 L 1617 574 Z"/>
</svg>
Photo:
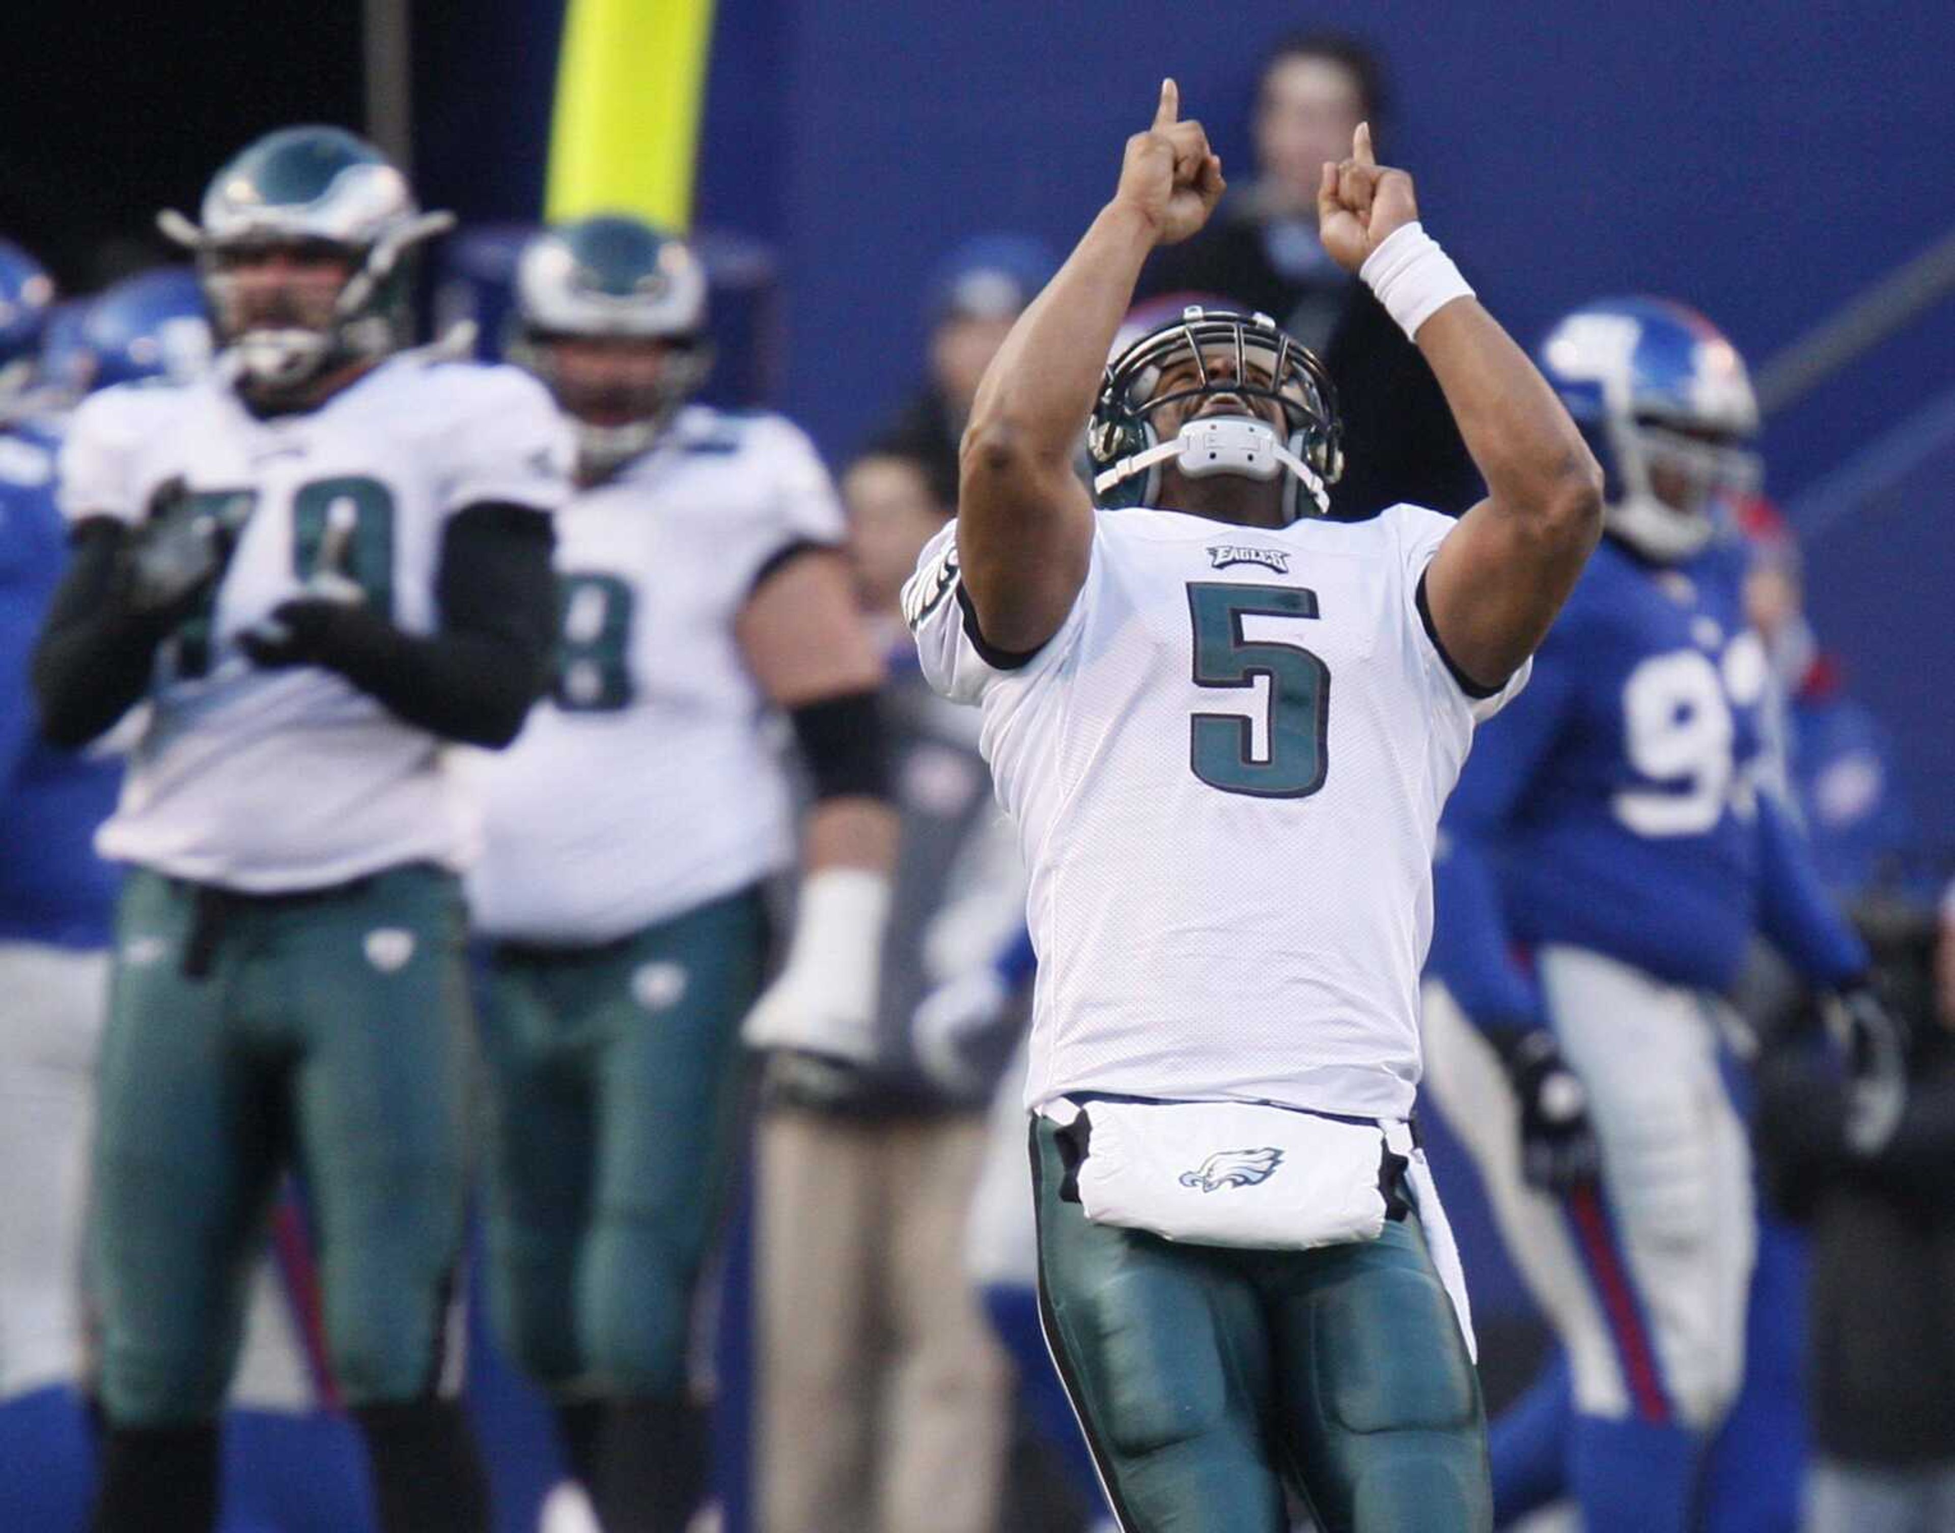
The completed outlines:
<svg viewBox="0 0 1955 1533">
<path fill-rule="evenodd" d="M 991 366 L 907 592 L 1030 868 L 1048 1339 L 1130 1533 L 1279 1533 L 1286 1490 L 1329 1533 L 1488 1529 L 1410 1130 L 1431 853 L 1595 546 L 1599 471 L 1365 127 L 1324 244 L 1425 354 L 1484 501 L 1322 520 L 1333 393 L 1261 315 L 1191 311 L 1103 373 L 1142 260 L 1220 194 L 1163 82 Z"/>
</svg>

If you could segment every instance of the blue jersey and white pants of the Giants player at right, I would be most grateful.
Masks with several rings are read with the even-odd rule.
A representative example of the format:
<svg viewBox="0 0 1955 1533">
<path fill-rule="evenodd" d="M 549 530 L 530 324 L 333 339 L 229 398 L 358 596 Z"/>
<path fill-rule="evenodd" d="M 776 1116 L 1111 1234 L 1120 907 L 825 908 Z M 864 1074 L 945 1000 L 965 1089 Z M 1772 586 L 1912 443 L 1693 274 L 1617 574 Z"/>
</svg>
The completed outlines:
<svg viewBox="0 0 1955 1533">
<path fill-rule="evenodd" d="M 1771 682 L 1742 573 L 1726 544 L 1656 565 L 1607 538 L 1441 825 L 1429 1081 L 1568 1347 L 1591 1529 L 1672 1527 L 1650 1508 L 1689 1504 L 1699 1435 L 1742 1379 L 1752 1177 L 1722 991 L 1756 935 L 1816 984 L 1867 964 L 1760 788 Z M 1464 1019 L 1552 1029 L 1591 1099 L 1599 1187 L 1523 1185 L 1505 1079 Z"/>
</svg>

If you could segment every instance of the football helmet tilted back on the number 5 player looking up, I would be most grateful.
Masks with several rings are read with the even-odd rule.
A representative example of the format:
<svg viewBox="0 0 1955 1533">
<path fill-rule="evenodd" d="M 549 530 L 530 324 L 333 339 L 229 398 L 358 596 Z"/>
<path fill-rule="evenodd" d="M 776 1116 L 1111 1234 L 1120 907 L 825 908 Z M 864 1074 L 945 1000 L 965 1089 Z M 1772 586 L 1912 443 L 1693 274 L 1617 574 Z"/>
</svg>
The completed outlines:
<svg viewBox="0 0 1955 1533">
<path fill-rule="evenodd" d="M 1210 375 L 1210 358 L 1218 350 L 1234 358 L 1234 375 Z M 1187 360 L 1195 362 L 1196 381 L 1157 393 L 1161 377 Z M 1269 420 L 1247 413 L 1210 415 L 1183 422 L 1173 440 L 1161 442 L 1155 411 L 1210 395 L 1273 399 L 1282 409 L 1288 432 L 1279 436 Z M 1282 487 L 1282 520 L 1324 516 L 1329 510 L 1329 487 L 1343 473 L 1337 389 L 1324 364 L 1279 330 L 1269 315 L 1189 305 L 1107 364 L 1087 428 L 1095 503 L 1155 504 L 1161 463 L 1169 458 L 1191 479 L 1210 473 L 1265 481 L 1288 475 Z"/>
</svg>

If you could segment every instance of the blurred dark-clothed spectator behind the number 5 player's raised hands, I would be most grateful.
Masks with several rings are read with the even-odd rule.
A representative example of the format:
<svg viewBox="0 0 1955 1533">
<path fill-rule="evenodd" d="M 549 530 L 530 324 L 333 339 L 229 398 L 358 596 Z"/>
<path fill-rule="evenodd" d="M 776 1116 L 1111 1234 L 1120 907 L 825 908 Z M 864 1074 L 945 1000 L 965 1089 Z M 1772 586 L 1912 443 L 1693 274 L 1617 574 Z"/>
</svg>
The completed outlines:
<svg viewBox="0 0 1955 1533">
<path fill-rule="evenodd" d="M 1236 180 L 1195 239 L 1155 250 L 1136 297 L 1226 293 L 1324 358 L 1345 442 L 1331 516 L 1398 501 L 1456 514 L 1478 497 L 1478 479 L 1431 368 L 1318 241 L 1324 162 L 1349 153 L 1361 121 L 1384 158 L 1384 108 L 1382 66 L 1363 43 L 1322 31 L 1281 39 L 1255 88 L 1253 178 Z"/>
</svg>

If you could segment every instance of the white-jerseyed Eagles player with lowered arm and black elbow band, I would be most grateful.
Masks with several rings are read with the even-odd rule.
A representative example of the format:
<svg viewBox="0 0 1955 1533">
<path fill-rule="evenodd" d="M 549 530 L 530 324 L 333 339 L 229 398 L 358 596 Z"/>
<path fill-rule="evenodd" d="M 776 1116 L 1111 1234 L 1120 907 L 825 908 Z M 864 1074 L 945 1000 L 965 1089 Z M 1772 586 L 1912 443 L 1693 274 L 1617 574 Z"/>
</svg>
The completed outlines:
<svg viewBox="0 0 1955 1533">
<path fill-rule="evenodd" d="M 688 246 L 590 217 L 532 241 L 516 287 L 516 354 L 575 424 L 579 493 L 555 686 L 479 763 L 493 1308 L 606 1533 L 678 1533 L 706 1470 L 686 1343 L 739 1142 L 741 1019 L 817 1077 L 874 1046 L 882 659 L 807 438 L 686 403 L 708 364 Z M 796 854 L 776 710 L 813 804 L 794 941 L 755 1005 L 760 884 Z"/>
</svg>

